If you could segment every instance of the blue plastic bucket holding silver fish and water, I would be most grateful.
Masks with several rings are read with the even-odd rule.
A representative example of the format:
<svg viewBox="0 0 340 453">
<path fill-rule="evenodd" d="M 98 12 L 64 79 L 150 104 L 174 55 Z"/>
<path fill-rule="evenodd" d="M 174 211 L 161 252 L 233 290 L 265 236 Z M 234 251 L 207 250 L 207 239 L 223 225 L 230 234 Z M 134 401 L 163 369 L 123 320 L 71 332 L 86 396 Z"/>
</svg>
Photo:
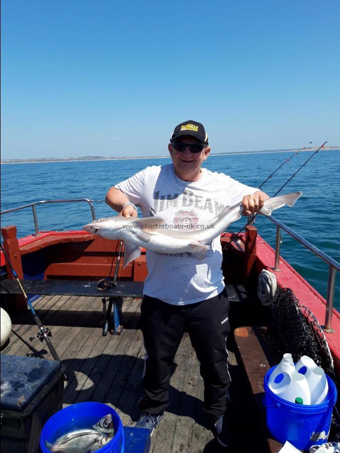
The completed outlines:
<svg viewBox="0 0 340 453">
<path fill-rule="evenodd" d="M 50 453 L 46 441 L 54 443 L 56 439 L 73 429 L 89 428 L 105 415 L 111 414 L 115 435 L 112 440 L 102 446 L 98 453 L 123 453 L 124 432 L 119 415 L 110 406 L 103 403 L 78 403 L 56 412 L 45 423 L 40 436 L 42 453 Z"/>
</svg>

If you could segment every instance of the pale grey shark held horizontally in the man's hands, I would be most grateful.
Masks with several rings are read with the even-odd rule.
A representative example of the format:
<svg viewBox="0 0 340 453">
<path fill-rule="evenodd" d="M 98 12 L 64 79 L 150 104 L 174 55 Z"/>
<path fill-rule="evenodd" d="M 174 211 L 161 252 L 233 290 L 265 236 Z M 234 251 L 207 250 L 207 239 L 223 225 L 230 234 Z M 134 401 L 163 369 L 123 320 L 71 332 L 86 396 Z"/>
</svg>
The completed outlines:
<svg viewBox="0 0 340 453">
<path fill-rule="evenodd" d="M 292 192 L 268 198 L 257 212 L 271 215 L 275 209 L 285 205 L 292 207 L 301 195 L 302 192 Z M 174 225 L 167 224 L 161 217 L 126 219 L 121 215 L 93 220 L 83 228 L 102 238 L 124 241 L 124 268 L 141 255 L 141 247 L 159 253 L 189 252 L 202 261 L 209 250 L 207 244 L 238 220 L 242 211 L 241 203 L 226 206 L 205 228 L 188 231 L 170 228 Z"/>
</svg>

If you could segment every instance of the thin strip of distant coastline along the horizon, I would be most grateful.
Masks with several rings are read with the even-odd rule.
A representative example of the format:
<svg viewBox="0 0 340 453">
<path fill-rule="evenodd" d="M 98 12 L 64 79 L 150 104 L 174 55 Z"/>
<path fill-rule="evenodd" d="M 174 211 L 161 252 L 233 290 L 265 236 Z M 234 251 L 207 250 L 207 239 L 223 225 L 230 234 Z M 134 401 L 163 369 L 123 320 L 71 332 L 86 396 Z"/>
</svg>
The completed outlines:
<svg viewBox="0 0 340 453">
<path fill-rule="evenodd" d="M 330 149 L 340 149 L 340 146 L 324 146 L 323 151 Z M 317 147 L 310 147 L 305 149 L 266 149 L 260 151 L 245 151 L 239 153 L 212 153 L 211 156 L 238 156 L 247 154 L 267 154 L 267 153 L 293 153 L 303 151 L 316 151 Z M 78 158 L 41 158 L 41 159 L 3 159 L 0 164 L 47 164 L 51 162 L 83 162 L 83 161 L 125 161 L 135 159 L 169 159 L 170 156 L 131 156 L 131 157 L 103 157 L 103 156 L 84 156 Z"/>
</svg>

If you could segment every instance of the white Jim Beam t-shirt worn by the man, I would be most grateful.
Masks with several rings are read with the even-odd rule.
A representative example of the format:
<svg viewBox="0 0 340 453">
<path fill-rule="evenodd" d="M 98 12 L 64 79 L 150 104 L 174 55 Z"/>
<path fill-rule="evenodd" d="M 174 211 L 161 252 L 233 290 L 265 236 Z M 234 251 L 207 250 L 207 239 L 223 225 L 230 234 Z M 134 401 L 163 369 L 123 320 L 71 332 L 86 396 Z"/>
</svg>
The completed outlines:
<svg viewBox="0 0 340 453">
<path fill-rule="evenodd" d="M 234 206 L 258 190 L 205 168 L 198 181 L 183 181 L 175 175 L 173 164 L 147 167 L 115 188 L 140 206 L 143 217 L 162 217 L 177 228 L 187 223 L 193 228 L 209 225 L 225 206 Z M 204 261 L 190 253 L 147 250 L 144 294 L 172 305 L 193 304 L 219 294 L 224 288 L 220 237 L 208 245 Z"/>
</svg>

